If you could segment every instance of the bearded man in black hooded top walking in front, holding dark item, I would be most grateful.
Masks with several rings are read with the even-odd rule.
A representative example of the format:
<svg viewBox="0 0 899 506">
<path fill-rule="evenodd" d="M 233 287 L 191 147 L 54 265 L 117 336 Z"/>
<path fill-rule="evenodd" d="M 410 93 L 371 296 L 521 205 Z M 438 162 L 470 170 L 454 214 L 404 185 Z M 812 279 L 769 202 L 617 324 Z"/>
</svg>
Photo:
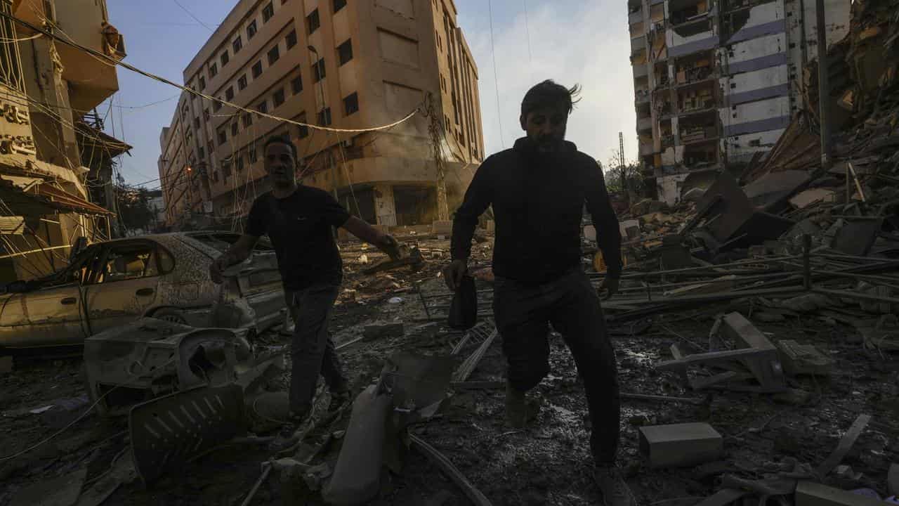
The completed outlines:
<svg viewBox="0 0 899 506">
<path fill-rule="evenodd" d="M 571 349 L 583 379 L 592 421 L 596 479 L 608 506 L 632 504 L 615 465 L 619 441 L 619 385 L 600 296 L 581 267 L 581 216 L 586 203 L 607 267 L 600 290 L 618 291 L 621 235 L 602 171 L 565 140 L 578 87 L 551 80 L 530 88 L 521 102 L 527 136 L 487 158 L 456 212 L 452 262 L 444 268 L 455 291 L 467 272 L 477 219 L 493 205 L 494 316 L 508 362 L 506 418 L 528 421 L 525 393 L 549 372 L 549 324 Z"/>
</svg>

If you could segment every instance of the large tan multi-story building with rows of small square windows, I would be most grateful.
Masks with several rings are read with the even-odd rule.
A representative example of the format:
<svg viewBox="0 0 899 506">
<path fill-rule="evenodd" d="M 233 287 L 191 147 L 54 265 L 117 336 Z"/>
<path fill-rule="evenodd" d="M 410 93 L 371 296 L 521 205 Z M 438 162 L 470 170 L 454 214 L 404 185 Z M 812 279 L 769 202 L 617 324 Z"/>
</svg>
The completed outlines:
<svg viewBox="0 0 899 506">
<path fill-rule="evenodd" d="M 387 130 L 320 131 L 184 93 L 160 136 L 167 225 L 239 228 L 269 189 L 263 144 L 275 134 L 296 143 L 304 184 L 366 221 L 446 216 L 484 157 L 477 68 L 456 16 L 452 0 L 237 2 L 184 69 L 186 86 L 334 129 L 419 113 Z"/>
</svg>

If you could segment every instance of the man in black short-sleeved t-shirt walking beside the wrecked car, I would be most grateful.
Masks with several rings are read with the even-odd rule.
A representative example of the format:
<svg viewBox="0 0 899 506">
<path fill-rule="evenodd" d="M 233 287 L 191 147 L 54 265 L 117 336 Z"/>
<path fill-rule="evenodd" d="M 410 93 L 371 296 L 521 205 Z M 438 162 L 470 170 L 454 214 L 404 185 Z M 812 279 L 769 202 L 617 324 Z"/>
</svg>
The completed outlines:
<svg viewBox="0 0 899 506">
<path fill-rule="evenodd" d="M 396 239 L 350 216 L 331 194 L 297 184 L 297 148 L 289 139 L 272 137 L 265 142 L 264 152 L 265 171 L 273 189 L 255 200 L 244 235 L 212 263 L 209 274 L 221 283 L 222 272 L 248 258 L 256 241 L 269 235 L 291 303 L 289 311 L 296 314 L 290 350 L 289 418 L 299 421 L 311 408 L 319 374 L 331 392 L 329 411 L 349 400 L 340 358 L 327 330 L 343 280 L 333 228 L 343 227 L 391 258 L 399 258 L 399 252 Z"/>
</svg>

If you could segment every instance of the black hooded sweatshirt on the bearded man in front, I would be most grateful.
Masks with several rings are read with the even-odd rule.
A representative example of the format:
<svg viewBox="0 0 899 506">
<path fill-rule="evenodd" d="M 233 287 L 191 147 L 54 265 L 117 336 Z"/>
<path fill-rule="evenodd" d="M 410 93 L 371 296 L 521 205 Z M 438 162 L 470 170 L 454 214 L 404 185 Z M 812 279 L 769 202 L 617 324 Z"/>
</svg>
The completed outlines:
<svg viewBox="0 0 899 506">
<path fill-rule="evenodd" d="M 471 253 L 478 217 L 493 205 L 494 274 L 539 285 L 581 266 L 587 204 L 609 276 L 621 273 L 621 233 L 602 171 L 573 142 L 539 152 L 527 137 L 478 167 L 452 229 L 452 258 Z"/>
</svg>

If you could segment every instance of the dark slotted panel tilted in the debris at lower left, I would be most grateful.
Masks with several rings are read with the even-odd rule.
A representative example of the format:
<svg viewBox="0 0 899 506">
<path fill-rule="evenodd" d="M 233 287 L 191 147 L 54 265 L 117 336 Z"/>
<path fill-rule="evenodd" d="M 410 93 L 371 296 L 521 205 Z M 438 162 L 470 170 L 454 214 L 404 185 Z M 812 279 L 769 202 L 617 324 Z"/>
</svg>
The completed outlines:
<svg viewBox="0 0 899 506">
<path fill-rule="evenodd" d="M 223 441 L 245 435 L 240 386 L 201 386 L 138 404 L 129 413 L 134 467 L 144 483 Z"/>
</svg>

